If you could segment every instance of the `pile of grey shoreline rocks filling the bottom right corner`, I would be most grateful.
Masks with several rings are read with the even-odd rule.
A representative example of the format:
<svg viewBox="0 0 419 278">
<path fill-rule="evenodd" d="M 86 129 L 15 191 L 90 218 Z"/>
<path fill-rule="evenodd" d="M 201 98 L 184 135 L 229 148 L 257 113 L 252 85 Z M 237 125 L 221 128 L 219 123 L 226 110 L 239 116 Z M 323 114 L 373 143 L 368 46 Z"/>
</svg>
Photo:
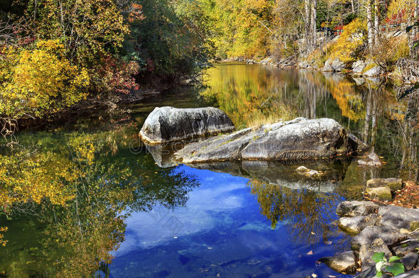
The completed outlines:
<svg viewBox="0 0 419 278">
<path fill-rule="evenodd" d="M 406 273 L 396 277 L 419 277 L 419 209 L 394 205 L 377 205 L 371 201 L 345 201 L 337 207 L 337 225 L 353 235 L 351 249 L 332 257 L 319 259 L 339 273 L 355 274 L 357 278 L 376 277 L 373 256 L 384 253 L 387 260 L 403 264 Z M 383 270 L 385 272 L 385 270 Z M 391 277 L 383 275 L 382 277 Z"/>
</svg>

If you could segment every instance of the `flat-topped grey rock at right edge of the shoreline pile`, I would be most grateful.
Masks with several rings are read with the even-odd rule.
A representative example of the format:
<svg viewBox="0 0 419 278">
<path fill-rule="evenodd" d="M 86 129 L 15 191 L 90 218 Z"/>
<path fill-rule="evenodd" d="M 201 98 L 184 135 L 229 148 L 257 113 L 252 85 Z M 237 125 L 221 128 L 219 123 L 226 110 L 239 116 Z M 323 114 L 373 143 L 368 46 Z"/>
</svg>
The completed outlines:
<svg viewBox="0 0 419 278">
<path fill-rule="evenodd" d="M 411 225 L 419 219 L 419 209 L 407 209 L 393 205 L 380 207 L 378 214 L 381 216 L 381 223 L 396 229 L 411 230 Z"/>
</svg>

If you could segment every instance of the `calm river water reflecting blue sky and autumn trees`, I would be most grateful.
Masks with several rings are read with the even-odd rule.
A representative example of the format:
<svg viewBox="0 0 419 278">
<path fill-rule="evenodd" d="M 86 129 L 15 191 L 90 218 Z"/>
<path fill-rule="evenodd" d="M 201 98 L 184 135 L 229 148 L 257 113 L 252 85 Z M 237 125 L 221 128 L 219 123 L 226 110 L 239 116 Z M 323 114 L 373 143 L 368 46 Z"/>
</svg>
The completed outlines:
<svg viewBox="0 0 419 278">
<path fill-rule="evenodd" d="M 371 177 L 418 178 L 411 104 L 379 80 L 356 82 L 218 65 L 205 87 L 148 95 L 125 113 L 82 116 L 21 132 L 19 143 L 3 141 L 0 227 L 8 230 L 0 231 L 7 240 L 0 277 L 347 277 L 317 264 L 349 249 L 350 237 L 335 224 L 337 204 L 361 198 Z M 296 174 L 301 164 L 162 168 L 137 133 L 155 106 L 166 105 L 218 106 L 238 128 L 332 117 L 387 163 L 307 163 L 324 170 L 321 181 Z"/>
</svg>

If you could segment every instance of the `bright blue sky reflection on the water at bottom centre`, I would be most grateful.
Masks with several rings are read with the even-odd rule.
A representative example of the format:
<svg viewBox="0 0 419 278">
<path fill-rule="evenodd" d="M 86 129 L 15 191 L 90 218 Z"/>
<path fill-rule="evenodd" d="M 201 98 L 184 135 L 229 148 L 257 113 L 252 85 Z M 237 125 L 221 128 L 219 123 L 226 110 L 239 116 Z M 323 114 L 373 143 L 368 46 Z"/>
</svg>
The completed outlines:
<svg viewBox="0 0 419 278">
<path fill-rule="evenodd" d="M 344 235 L 332 231 L 333 213 L 321 211 L 327 219 L 321 223 L 326 231 L 313 231 L 315 234 L 293 231 L 293 218 L 278 222 L 273 229 L 260 213 L 249 179 L 187 166 L 178 169 L 194 174 L 201 185 L 188 194 L 185 207 L 155 207 L 126 220 L 126 240 L 109 266 L 113 277 L 337 275 L 315 264 L 346 245 Z M 310 200 L 315 202 L 313 197 Z M 333 209 L 341 198 L 331 200 Z"/>
</svg>

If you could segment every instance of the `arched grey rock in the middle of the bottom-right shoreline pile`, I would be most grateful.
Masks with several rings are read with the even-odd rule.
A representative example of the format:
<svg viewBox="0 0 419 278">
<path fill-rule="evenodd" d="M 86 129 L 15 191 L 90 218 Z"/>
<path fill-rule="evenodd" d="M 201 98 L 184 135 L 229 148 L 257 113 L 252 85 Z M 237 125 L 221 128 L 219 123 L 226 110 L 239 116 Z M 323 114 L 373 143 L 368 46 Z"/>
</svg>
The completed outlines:
<svg viewBox="0 0 419 278">
<path fill-rule="evenodd" d="M 386 225 L 366 227 L 354 236 L 351 241 L 351 248 L 359 251 L 361 246 L 373 242 L 377 238 L 384 240 L 386 245 L 396 244 L 407 238 L 407 235 L 400 233 L 400 230 Z"/>
</svg>

